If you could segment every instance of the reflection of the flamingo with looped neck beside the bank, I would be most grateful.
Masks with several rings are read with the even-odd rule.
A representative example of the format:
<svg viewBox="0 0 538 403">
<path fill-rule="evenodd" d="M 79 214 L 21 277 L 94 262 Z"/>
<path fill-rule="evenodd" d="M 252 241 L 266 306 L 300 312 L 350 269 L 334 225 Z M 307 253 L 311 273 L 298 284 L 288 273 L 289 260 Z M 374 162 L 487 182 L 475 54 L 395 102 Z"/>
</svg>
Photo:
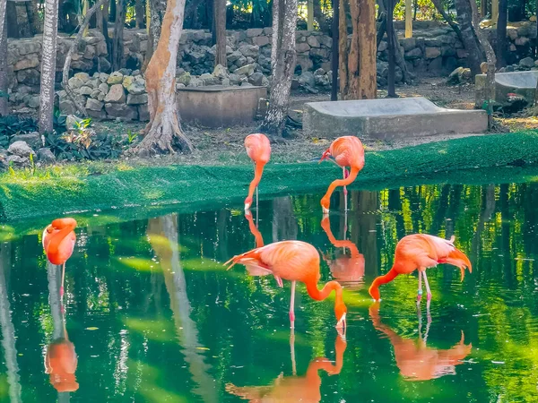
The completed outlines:
<svg viewBox="0 0 538 403">
<path fill-rule="evenodd" d="M 331 244 L 334 244 L 337 248 L 343 248 L 343 255 L 334 260 L 329 259 L 328 256 L 323 256 L 324 261 L 329 265 L 329 268 L 331 268 L 333 278 L 341 282 L 354 283 L 362 280 L 364 278 L 364 255 L 359 252 L 357 245 L 348 240 L 338 241 L 334 238 L 333 231 L 331 231 L 329 216 L 325 216 L 325 218 L 321 220 L 321 227 L 325 231 Z M 350 250 L 351 256 L 345 254 L 346 248 Z"/>
</svg>

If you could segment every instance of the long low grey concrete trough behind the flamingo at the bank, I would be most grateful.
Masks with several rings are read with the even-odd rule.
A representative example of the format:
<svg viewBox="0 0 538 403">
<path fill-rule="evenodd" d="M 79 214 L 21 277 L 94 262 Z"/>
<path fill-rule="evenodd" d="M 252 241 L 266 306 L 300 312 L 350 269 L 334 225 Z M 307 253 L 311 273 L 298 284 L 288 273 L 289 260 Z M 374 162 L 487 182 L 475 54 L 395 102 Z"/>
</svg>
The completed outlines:
<svg viewBox="0 0 538 403">
<path fill-rule="evenodd" d="M 336 138 L 354 134 L 391 140 L 447 133 L 482 133 L 484 110 L 438 107 L 425 98 L 365 99 L 306 104 L 303 130 L 311 136 Z"/>
</svg>

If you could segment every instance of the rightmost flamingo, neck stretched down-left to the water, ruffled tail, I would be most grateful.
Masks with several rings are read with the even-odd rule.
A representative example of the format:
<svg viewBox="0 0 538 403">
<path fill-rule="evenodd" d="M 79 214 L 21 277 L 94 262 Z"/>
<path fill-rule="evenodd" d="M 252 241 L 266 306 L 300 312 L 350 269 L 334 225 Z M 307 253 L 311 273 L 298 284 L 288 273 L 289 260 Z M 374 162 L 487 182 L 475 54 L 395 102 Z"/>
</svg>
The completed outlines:
<svg viewBox="0 0 538 403">
<path fill-rule="evenodd" d="M 374 280 L 369 287 L 369 295 L 375 300 L 379 300 L 379 286 L 386 284 L 395 279 L 398 274 L 410 274 L 415 269 L 419 270 L 419 292 L 417 301 L 421 301 L 422 297 L 422 277 L 426 284 L 426 292 L 428 293 L 428 302 L 431 299 L 430 284 L 426 277 L 426 269 L 435 267 L 438 263 L 448 263 L 458 267 L 462 273 L 462 281 L 464 280 L 465 267 L 469 272 L 473 270 L 471 262 L 465 254 L 454 246 L 455 237 L 450 240 L 439 238 L 438 236 L 430 236 L 426 234 L 413 234 L 404 236 L 398 244 L 396 244 L 395 262 L 391 270 L 386 275 L 379 276 Z"/>
</svg>

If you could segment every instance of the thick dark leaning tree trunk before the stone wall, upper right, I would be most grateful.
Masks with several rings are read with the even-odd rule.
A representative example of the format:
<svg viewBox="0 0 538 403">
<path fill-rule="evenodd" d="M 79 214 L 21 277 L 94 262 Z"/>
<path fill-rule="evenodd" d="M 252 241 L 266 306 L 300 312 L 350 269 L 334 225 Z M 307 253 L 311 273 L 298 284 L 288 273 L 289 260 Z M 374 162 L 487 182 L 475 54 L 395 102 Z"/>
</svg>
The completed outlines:
<svg viewBox="0 0 538 403">
<path fill-rule="evenodd" d="M 467 63 L 474 76 L 481 73 L 480 64 L 484 61 L 485 56 L 476 36 L 476 30 L 473 28 L 473 11 L 469 0 L 455 0 L 455 6 L 464 47 L 469 54 Z"/>
</svg>

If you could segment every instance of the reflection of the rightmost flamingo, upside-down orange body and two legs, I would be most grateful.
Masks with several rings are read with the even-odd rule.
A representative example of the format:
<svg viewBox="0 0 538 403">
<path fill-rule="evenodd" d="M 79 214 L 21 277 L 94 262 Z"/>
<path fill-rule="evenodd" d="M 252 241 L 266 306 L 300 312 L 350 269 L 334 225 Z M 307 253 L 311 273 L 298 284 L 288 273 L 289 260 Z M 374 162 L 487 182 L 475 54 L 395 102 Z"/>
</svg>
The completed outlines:
<svg viewBox="0 0 538 403">
<path fill-rule="evenodd" d="M 424 337 L 421 336 L 421 322 L 419 322 L 419 340 L 404 339 L 394 330 L 381 322 L 379 317 L 379 303 L 369 307 L 369 316 L 374 327 L 385 333 L 395 350 L 396 365 L 405 381 L 430 381 L 445 375 L 455 375 L 456 365 L 463 364 L 464 358 L 471 354 L 472 344 L 464 344 L 464 332 L 460 341 L 452 348 L 438 349 L 426 345 L 430 331 L 431 316 L 427 313 L 428 322 Z M 419 309 L 419 318 L 421 311 Z"/>
</svg>

